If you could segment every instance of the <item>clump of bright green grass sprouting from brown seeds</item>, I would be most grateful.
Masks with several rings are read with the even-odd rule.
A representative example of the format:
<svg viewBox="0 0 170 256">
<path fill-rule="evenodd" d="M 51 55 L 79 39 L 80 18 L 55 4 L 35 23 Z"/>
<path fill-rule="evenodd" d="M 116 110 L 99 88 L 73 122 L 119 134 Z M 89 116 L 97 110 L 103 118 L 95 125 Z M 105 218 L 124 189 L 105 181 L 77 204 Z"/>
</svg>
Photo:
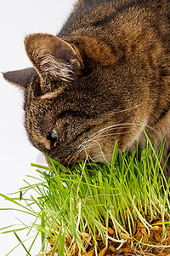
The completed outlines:
<svg viewBox="0 0 170 256">
<path fill-rule="evenodd" d="M 70 170 L 50 158 L 48 167 L 31 164 L 38 177 L 29 177 L 17 198 L 1 196 L 35 222 L 2 232 L 14 232 L 31 256 L 39 236 L 42 256 L 170 255 L 170 183 L 160 164 L 164 144 L 155 152 L 148 140 L 141 155 L 138 145 L 131 154 L 116 154 L 116 144 L 111 166 L 82 160 Z M 24 229 L 36 231 L 28 248 L 20 240 Z"/>
</svg>

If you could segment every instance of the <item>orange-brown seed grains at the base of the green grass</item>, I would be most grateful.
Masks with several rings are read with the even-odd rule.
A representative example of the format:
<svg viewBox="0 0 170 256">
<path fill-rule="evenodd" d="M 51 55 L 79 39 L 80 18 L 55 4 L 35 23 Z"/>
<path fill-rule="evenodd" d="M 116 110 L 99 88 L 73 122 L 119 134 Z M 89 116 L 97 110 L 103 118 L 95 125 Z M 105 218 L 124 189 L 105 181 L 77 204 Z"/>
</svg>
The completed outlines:
<svg viewBox="0 0 170 256">
<path fill-rule="evenodd" d="M 128 236 L 126 233 L 122 231 L 116 234 L 113 225 L 110 224 L 110 227 L 108 228 L 109 239 L 107 246 L 105 246 L 104 241 L 102 241 L 101 236 L 99 236 L 98 231 L 96 230 L 95 238 L 97 242 L 98 256 L 170 256 L 170 227 L 166 226 L 166 224 L 162 225 L 161 220 L 159 218 L 150 220 L 150 216 L 148 216 L 146 217 L 146 220 L 152 225 L 150 230 L 148 230 L 148 228 L 146 228 L 144 224 L 135 221 L 132 229 L 132 237 Z M 165 223 L 167 221 L 168 220 L 165 219 Z M 166 235 L 164 235 L 165 230 L 167 230 Z M 80 233 L 80 236 L 82 237 L 82 242 L 86 251 L 80 252 L 76 243 L 73 243 L 71 245 L 71 238 L 66 236 L 65 248 L 68 249 L 71 246 L 68 255 L 95 255 L 94 240 L 92 239 L 92 236 L 88 233 L 88 230 L 85 230 L 85 232 Z M 121 244 L 120 242 L 116 242 L 111 239 L 121 239 L 126 241 Z M 47 256 L 51 255 L 53 245 L 54 242 L 49 241 L 50 247 L 48 253 L 46 253 Z M 56 248 L 56 253 L 58 253 L 58 248 Z"/>
</svg>

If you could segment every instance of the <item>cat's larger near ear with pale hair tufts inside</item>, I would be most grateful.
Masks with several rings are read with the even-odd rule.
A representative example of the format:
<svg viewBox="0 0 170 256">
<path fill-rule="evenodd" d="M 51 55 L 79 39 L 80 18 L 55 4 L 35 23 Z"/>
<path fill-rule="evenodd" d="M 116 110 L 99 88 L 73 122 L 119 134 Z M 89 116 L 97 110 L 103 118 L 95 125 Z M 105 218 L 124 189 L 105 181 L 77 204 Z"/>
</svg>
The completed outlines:
<svg viewBox="0 0 170 256">
<path fill-rule="evenodd" d="M 26 53 L 43 80 L 72 79 L 73 69 L 83 67 L 79 50 L 50 34 L 36 33 L 25 40 Z"/>
</svg>

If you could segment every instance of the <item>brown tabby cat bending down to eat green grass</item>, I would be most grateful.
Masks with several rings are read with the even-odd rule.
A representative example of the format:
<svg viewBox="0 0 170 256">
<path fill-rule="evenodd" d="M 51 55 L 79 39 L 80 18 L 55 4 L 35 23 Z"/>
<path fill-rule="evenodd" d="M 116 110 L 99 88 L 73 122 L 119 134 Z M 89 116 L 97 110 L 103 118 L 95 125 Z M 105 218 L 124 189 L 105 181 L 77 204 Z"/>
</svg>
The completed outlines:
<svg viewBox="0 0 170 256">
<path fill-rule="evenodd" d="M 25 90 L 31 143 L 63 165 L 111 163 L 145 143 L 170 150 L 170 1 L 80 0 L 57 36 L 26 37 L 33 67 L 3 73 Z M 143 127 L 142 127 L 143 125 Z M 170 171 L 165 171 L 166 177 Z"/>
</svg>

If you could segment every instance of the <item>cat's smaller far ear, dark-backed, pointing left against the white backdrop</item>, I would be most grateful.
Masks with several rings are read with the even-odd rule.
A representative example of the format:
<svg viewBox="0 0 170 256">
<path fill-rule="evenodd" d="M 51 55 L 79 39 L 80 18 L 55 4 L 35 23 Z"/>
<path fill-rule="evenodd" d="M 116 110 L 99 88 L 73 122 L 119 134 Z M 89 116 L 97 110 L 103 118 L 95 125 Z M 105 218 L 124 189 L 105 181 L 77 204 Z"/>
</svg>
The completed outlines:
<svg viewBox="0 0 170 256">
<path fill-rule="evenodd" d="M 33 67 L 3 73 L 3 78 L 10 84 L 26 89 L 31 77 L 36 73 Z"/>
</svg>

